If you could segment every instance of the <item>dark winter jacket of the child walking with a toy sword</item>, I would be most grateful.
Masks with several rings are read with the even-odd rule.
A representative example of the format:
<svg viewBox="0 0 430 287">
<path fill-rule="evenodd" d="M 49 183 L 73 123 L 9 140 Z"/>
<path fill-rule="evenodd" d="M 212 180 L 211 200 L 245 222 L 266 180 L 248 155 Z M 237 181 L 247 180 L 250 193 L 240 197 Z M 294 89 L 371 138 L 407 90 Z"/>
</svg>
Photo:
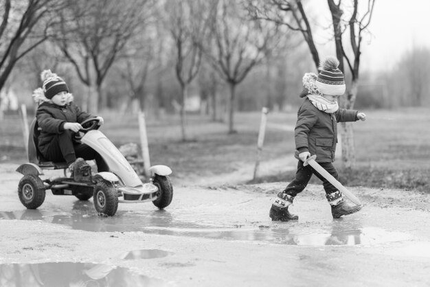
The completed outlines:
<svg viewBox="0 0 430 287">
<path fill-rule="evenodd" d="M 300 95 L 303 97 L 303 95 Z M 317 162 L 335 161 L 337 123 L 357 121 L 358 111 L 339 108 L 335 113 L 319 111 L 306 97 L 297 112 L 295 126 L 295 158 L 300 152 L 317 154 Z"/>
</svg>

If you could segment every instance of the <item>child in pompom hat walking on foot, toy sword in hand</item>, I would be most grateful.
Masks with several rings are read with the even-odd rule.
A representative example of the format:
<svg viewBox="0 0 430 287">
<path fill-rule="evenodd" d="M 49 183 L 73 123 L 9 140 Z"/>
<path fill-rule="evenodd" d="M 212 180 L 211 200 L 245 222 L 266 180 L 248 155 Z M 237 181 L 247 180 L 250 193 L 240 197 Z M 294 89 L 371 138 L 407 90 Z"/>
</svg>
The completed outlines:
<svg viewBox="0 0 430 287">
<path fill-rule="evenodd" d="M 328 57 L 321 61 L 318 76 L 315 73 L 304 74 L 304 89 L 299 95 L 304 97 L 304 102 L 297 112 L 295 126 L 295 158 L 299 160 L 297 172 L 295 179 L 278 194 L 271 206 L 269 216 L 273 221 L 299 219 L 288 211 L 288 206 L 308 185 L 313 174 L 323 182 L 333 218 L 353 214 L 361 209 L 361 205 L 347 203 L 343 194 L 310 165 L 303 165 L 308 157 L 316 154 L 317 163 L 339 180 L 339 174 L 332 164 L 335 161 L 337 123 L 366 119 L 364 113 L 339 108 L 337 98 L 345 93 L 346 85 L 338 67 L 339 60 Z"/>
</svg>

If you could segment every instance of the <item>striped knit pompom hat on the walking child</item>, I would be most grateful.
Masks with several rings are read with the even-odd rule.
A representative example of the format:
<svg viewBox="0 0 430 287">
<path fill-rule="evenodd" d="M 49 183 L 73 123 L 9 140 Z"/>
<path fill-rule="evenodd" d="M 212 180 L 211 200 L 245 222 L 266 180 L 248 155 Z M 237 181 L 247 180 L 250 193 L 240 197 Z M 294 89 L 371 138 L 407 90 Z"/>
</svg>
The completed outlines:
<svg viewBox="0 0 430 287">
<path fill-rule="evenodd" d="M 319 75 L 315 85 L 325 95 L 343 95 L 346 90 L 343 73 L 339 70 L 339 60 L 327 57 L 319 63 Z"/>
</svg>

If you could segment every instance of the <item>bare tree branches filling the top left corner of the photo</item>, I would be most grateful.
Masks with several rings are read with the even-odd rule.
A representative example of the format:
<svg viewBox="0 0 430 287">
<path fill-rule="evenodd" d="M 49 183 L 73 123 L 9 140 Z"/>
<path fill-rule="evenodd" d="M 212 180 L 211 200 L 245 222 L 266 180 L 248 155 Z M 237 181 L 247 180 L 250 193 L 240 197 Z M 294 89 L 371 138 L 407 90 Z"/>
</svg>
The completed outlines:
<svg viewBox="0 0 430 287">
<path fill-rule="evenodd" d="M 58 24 L 58 11 L 68 5 L 60 0 L 0 0 L 0 90 L 23 56 L 45 42 Z"/>
</svg>

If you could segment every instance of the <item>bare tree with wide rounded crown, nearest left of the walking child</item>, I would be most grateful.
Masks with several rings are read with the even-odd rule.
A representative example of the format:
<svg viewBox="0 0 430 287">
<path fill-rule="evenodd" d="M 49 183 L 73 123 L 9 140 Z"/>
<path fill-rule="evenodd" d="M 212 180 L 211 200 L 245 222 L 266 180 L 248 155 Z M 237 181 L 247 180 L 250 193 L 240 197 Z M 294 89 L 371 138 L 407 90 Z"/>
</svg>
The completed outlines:
<svg viewBox="0 0 430 287">
<path fill-rule="evenodd" d="M 212 20 L 213 41 L 203 47 L 205 54 L 229 87 L 229 129 L 234 129 L 236 86 L 256 67 L 275 43 L 278 25 L 251 21 L 240 1 L 218 1 Z"/>
</svg>

